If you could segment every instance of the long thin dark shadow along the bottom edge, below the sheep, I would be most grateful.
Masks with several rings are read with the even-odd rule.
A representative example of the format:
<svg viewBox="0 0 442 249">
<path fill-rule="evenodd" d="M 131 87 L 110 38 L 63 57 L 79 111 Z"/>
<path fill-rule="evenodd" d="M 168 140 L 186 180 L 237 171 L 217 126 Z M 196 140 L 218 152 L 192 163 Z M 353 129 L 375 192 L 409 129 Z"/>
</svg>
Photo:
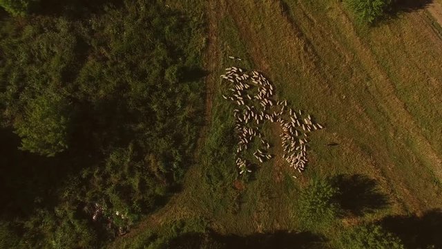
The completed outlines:
<svg viewBox="0 0 442 249">
<path fill-rule="evenodd" d="M 251 234 L 248 236 L 189 233 L 172 239 L 169 248 L 321 248 L 324 242 L 311 232 L 287 232 Z"/>
</svg>

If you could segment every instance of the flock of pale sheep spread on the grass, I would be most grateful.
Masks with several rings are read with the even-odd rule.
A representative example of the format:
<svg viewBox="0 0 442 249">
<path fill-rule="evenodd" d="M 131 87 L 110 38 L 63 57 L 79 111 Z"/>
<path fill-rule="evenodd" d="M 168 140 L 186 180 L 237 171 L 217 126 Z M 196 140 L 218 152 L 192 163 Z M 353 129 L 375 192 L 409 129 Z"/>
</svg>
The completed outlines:
<svg viewBox="0 0 442 249">
<path fill-rule="evenodd" d="M 230 58 L 230 57 L 229 57 Z M 238 59 L 231 57 L 231 59 Z M 240 59 L 238 59 L 240 60 Z M 235 132 L 238 136 L 236 152 L 236 166 L 240 174 L 251 172 L 251 163 L 245 159 L 246 151 L 252 148 L 254 140 L 259 139 L 259 146 L 253 156 L 260 163 L 273 158 L 268 149 L 271 145 L 260 132 L 259 124 L 272 122 L 280 124 L 282 133 L 282 149 L 284 158 L 290 167 L 302 172 L 308 162 L 307 140 L 309 132 L 323 129 L 321 124 L 315 123 L 310 115 L 303 115 L 302 111 L 295 111 L 287 106 L 287 100 L 273 99 L 273 84 L 257 71 L 248 73 L 242 68 L 232 66 L 226 68 L 226 73 L 221 75 L 223 80 L 233 85 L 229 94 L 222 95 L 225 100 L 231 100 L 238 105 L 233 110 L 235 116 Z M 253 94 L 253 90 L 257 92 Z M 296 178 L 296 176 L 294 176 Z"/>
</svg>

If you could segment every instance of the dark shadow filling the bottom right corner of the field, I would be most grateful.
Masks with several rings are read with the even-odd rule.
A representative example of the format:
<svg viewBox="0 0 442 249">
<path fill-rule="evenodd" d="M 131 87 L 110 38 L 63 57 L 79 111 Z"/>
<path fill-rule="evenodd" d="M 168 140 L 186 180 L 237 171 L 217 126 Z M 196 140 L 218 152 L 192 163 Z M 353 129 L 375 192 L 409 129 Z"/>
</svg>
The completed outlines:
<svg viewBox="0 0 442 249">
<path fill-rule="evenodd" d="M 405 248 L 442 248 L 442 209 L 422 216 L 387 216 L 381 223 L 402 239 Z"/>
</svg>

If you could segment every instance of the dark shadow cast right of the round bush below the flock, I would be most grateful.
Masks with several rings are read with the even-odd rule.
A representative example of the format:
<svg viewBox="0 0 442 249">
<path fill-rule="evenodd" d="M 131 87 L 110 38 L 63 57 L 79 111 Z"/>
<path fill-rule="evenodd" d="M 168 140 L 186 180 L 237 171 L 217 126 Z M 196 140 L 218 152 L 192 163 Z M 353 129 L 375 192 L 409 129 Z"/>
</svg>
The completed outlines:
<svg viewBox="0 0 442 249">
<path fill-rule="evenodd" d="M 387 196 L 379 192 L 374 179 L 361 174 L 341 174 L 332 179 L 340 193 L 336 201 L 347 214 L 363 216 L 389 205 Z"/>
</svg>

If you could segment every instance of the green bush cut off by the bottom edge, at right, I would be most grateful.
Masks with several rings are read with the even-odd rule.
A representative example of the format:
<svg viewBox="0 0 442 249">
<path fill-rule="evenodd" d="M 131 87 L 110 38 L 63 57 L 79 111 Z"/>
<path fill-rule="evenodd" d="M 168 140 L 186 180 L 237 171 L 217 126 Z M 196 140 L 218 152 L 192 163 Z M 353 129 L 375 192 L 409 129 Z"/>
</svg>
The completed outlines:
<svg viewBox="0 0 442 249">
<path fill-rule="evenodd" d="M 340 248 L 345 249 L 403 249 L 401 239 L 384 230 L 381 225 L 361 225 L 341 238 Z"/>
</svg>

